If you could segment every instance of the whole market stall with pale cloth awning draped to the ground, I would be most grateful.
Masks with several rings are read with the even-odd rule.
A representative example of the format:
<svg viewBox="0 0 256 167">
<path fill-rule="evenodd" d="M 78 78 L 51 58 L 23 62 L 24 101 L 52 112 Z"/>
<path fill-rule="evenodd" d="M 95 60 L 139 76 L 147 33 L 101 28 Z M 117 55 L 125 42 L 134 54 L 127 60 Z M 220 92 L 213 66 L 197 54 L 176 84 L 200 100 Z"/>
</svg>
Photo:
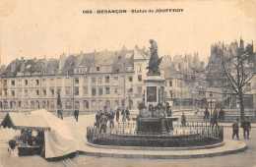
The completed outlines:
<svg viewBox="0 0 256 167">
<path fill-rule="evenodd" d="M 78 141 L 65 123 L 45 109 L 30 114 L 8 113 L 1 127 L 21 130 L 21 136 L 12 139 L 20 156 L 40 154 L 53 158 L 78 150 Z"/>
</svg>

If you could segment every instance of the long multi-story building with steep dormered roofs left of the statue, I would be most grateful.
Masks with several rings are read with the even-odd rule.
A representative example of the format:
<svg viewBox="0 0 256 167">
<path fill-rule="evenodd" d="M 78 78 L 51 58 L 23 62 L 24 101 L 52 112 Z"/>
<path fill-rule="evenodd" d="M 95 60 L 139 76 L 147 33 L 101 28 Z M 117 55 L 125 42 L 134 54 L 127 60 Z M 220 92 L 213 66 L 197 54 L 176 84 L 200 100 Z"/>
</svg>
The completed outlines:
<svg viewBox="0 0 256 167">
<path fill-rule="evenodd" d="M 62 54 L 60 59 L 14 60 L 2 73 L 1 110 L 96 111 L 104 105 L 136 108 L 143 100 L 149 54 L 134 50 Z"/>
</svg>

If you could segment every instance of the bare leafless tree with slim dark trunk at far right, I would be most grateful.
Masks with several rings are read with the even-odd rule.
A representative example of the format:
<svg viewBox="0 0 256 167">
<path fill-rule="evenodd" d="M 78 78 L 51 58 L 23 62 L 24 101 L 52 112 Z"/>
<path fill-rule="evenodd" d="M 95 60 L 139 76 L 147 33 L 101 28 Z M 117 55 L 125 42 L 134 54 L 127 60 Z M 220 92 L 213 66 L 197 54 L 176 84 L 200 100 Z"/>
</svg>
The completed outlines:
<svg viewBox="0 0 256 167">
<path fill-rule="evenodd" d="M 248 44 L 246 49 L 243 40 L 240 40 L 239 47 L 223 47 L 222 54 L 219 55 L 221 61 L 214 62 L 215 67 L 220 73 L 216 77 L 228 82 L 240 100 L 240 118 L 244 119 L 244 93 L 248 91 L 246 83 L 249 83 L 255 75 L 255 62 L 250 62 L 253 53 L 253 44 Z M 217 64 L 218 63 L 218 64 Z"/>
</svg>

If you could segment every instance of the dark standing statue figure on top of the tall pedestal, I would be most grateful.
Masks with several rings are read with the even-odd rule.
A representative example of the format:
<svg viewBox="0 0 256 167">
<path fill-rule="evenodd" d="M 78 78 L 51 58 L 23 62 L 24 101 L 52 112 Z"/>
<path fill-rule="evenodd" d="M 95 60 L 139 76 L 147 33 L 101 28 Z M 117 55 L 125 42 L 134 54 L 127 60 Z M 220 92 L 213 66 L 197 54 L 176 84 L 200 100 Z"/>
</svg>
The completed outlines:
<svg viewBox="0 0 256 167">
<path fill-rule="evenodd" d="M 151 58 L 149 62 L 149 67 L 147 67 L 147 69 L 149 69 L 148 75 L 160 75 L 161 58 L 159 57 L 159 54 L 158 54 L 158 44 L 153 39 L 150 40 L 150 43 L 151 43 L 151 47 L 150 47 Z"/>
</svg>

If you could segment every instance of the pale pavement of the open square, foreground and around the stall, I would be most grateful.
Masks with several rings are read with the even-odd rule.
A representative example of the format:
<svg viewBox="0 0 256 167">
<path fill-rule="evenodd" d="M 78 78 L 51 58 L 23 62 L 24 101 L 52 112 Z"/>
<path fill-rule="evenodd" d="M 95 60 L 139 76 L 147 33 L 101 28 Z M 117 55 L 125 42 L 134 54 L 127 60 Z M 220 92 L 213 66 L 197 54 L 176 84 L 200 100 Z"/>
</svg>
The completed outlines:
<svg viewBox="0 0 256 167">
<path fill-rule="evenodd" d="M 80 147 L 86 143 L 86 131 L 88 126 L 94 125 L 95 115 L 81 116 L 76 122 L 73 117 L 64 118 L 73 136 L 79 140 Z M 251 131 L 251 139 L 243 139 L 242 131 L 239 135 L 242 141 L 248 145 L 243 152 L 216 156 L 210 158 L 196 159 L 128 159 L 111 157 L 94 157 L 78 155 L 72 159 L 61 161 L 46 161 L 39 156 L 7 157 L 8 144 L 5 142 L 8 137 L 15 135 L 11 129 L 0 129 L 0 167 L 2 166 L 255 166 L 256 159 L 256 129 Z M 8 132 L 7 132 L 8 131 Z M 1 136 L 2 133 L 2 136 Z M 3 134 L 5 139 L 3 139 Z M 224 128 L 224 139 L 231 139 L 231 128 Z"/>
</svg>

